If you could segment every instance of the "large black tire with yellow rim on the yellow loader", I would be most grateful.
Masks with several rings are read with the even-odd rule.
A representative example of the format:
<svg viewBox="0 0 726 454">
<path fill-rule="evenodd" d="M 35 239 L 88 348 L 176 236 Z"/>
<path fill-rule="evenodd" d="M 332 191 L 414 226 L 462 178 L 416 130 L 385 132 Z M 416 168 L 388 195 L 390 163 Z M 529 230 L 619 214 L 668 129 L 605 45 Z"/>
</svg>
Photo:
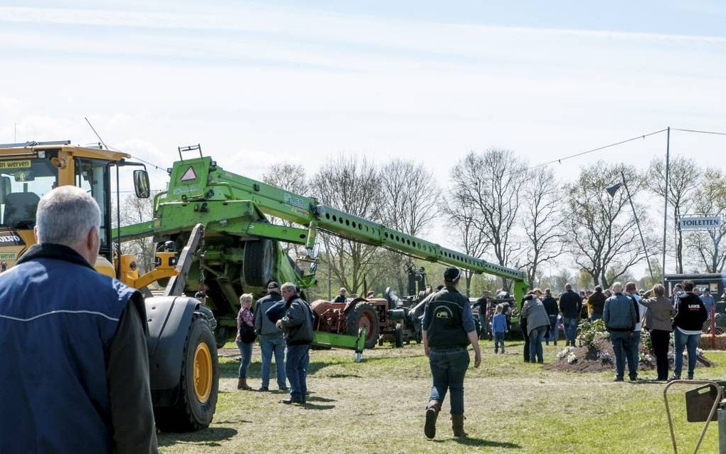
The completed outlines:
<svg viewBox="0 0 726 454">
<path fill-rule="evenodd" d="M 201 372 L 197 377 L 195 368 Z M 206 317 L 197 312 L 184 341 L 179 398 L 174 406 L 154 408 L 156 425 L 162 431 L 171 432 L 205 429 L 212 422 L 218 391 L 219 365 L 214 334 Z"/>
</svg>

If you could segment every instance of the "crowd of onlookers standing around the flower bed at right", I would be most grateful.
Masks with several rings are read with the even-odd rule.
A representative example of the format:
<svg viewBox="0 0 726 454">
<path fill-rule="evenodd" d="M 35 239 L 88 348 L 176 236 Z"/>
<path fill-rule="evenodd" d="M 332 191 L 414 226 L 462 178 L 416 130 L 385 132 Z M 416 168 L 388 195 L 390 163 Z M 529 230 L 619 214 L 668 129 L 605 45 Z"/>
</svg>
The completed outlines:
<svg viewBox="0 0 726 454">
<path fill-rule="evenodd" d="M 658 381 L 680 379 L 683 367 L 683 352 L 687 353 L 687 377 L 693 378 L 696 366 L 696 347 L 701 337 L 703 323 L 714 310 L 714 297 L 709 288 L 703 290 L 690 280 L 674 286 L 672 297 L 666 298 L 665 288 L 654 285 L 648 291 L 637 291 L 635 283 L 613 283 L 603 290 L 596 285 L 593 291 L 574 291 L 567 283 L 565 291 L 555 299 L 549 288 L 544 293 L 534 288 L 521 301 L 520 327 L 523 337 L 523 360 L 542 364 L 542 343 L 555 345 L 559 339 L 559 327 L 563 327 L 566 346 L 575 346 L 577 327 L 581 320 L 600 320 L 610 335 L 615 356 L 615 381 L 624 381 L 625 365 L 628 365 L 629 379 L 637 381 L 637 367 L 640 362 L 641 333 L 648 330 L 656 357 Z M 492 339 L 494 353 L 505 352 L 505 333 L 510 331 L 510 305 L 498 302 L 508 294 L 498 291 L 497 299 L 489 299 L 491 292 L 473 306 L 478 307 L 482 326 L 489 319 L 486 312 L 492 309 Z M 482 329 L 482 334 L 485 330 Z M 673 338 L 674 373 L 669 378 L 669 344 Z"/>
</svg>

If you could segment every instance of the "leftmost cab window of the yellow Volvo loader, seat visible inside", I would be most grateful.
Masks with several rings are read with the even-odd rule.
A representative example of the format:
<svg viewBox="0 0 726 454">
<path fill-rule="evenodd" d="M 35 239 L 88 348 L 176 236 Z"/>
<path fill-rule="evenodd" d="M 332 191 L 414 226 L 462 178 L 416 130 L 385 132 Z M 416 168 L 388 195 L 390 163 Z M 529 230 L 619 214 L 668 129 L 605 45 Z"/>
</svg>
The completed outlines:
<svg viewBox="0 0 726 454">
<path fill-rule="evenodd" d="M 2 225 L 32 229 L 38 201 L 57 184 L 57 170 L 49 158 L 0 160 Z"/>
</svg>

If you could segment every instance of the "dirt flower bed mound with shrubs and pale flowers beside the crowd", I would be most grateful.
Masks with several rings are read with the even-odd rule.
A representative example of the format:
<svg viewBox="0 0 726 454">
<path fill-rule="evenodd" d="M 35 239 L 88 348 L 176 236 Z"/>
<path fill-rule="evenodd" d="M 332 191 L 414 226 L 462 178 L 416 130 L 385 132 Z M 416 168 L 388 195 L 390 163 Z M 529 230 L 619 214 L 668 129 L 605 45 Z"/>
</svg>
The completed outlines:
<svg viewBox="0 0 726 454">
<path fill-rule="evenodd" d="M 578 340 L 579 341 L 579 340 Z M 610 339 L 604 334 L 597 334 L 593 346 L 566 347 L 555 357 L 555 362 L 544 365 L 547 370 L 566 370 L 569 372 L 607 372 L 615 370 L 615 352 Z M 656 357 L 649 352 L 643 343 L 640 344 L 640 362 L 638 370 L 654 370 Z M 673 368 L 673 350 L 669 352 L 669 362 Z M 686 360 L 684 358 L 684 365 Z M 627 362 L 626 362 L 627 365 Z M 713 367 L 715 364 L 701 354 L 696 361 L 697 367 Z"/>
</svg>

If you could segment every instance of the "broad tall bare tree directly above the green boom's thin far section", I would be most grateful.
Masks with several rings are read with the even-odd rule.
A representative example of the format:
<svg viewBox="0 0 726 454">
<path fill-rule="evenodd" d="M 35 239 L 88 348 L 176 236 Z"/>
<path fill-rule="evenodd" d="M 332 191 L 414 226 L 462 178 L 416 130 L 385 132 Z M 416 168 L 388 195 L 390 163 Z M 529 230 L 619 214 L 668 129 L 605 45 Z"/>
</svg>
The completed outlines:
<svg viewBox="0 0 726 454">
<path fill-rule="evenodd" d="M 509 150 L 470 152 L 452 170 L 452 188 L 472 210 L 473 226 L 481 231 L 498 264 L 512 266 L 523 247 L 517 238 L 525 163 Z M 507 280 L 502 279 L 507 287 Z"/>
</svg>

